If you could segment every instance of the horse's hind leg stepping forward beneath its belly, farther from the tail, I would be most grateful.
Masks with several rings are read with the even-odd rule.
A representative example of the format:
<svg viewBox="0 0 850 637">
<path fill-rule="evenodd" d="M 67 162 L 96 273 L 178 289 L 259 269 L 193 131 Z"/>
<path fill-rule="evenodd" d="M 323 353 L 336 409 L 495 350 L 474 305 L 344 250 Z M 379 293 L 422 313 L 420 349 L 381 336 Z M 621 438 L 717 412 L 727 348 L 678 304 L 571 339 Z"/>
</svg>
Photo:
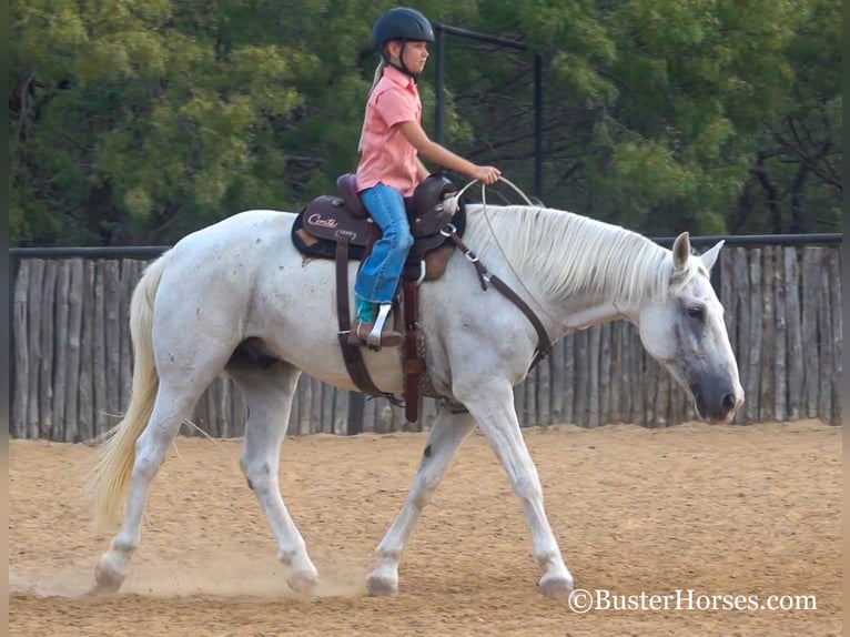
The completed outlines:
<svg viewBox="0 0 850 637">
<path fill-rule="evenodd" d="M 277 558 L 285 568 L 286 583 L 295 590 L 310 592 L 318 580 L 316 567 L 286 510 L 277 477 L 281 444 L 301 372 L 282 362 L 265 370 L 240 367 L 227 372 L 242 390 L 249 410 L 240 457 L 242 473 L 277 540 Z"/>
</svg>

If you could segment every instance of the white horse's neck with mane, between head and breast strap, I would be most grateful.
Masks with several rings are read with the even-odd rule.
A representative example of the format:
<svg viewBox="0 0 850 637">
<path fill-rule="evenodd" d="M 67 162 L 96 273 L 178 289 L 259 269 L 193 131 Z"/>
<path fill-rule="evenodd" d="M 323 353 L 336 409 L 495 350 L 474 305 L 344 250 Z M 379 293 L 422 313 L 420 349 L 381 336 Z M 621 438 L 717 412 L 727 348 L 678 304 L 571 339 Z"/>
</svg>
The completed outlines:
<svg viewBox="0 0 850 637">
<path fill-rule="evenodd" d="M 640 304 L 659 293 L 665 250 L 645 236 L 557 210 L 490 211 L 474 211 L 470 247 L 482 247 L 484 262 L 504 257 L 512 286 L 556 332 L 636 322 Z"/>
</svg>

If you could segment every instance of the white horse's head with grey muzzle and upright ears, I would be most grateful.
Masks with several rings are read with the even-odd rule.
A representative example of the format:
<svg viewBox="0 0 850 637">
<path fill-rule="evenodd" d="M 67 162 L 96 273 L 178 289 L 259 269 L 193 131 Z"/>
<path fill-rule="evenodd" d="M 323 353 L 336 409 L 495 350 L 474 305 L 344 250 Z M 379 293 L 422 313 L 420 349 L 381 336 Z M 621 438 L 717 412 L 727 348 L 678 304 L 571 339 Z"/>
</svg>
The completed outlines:
<svg viewBox="0 0 850 637">
<path fill-rule="evenodd" d="M 688 391 L 699 416 L 710 423 L 729 422 L 743 404 L 723 307 L 709 280 L 722 243 L 695 255 L 688 233 L 676 237 L 667 294 L 645 303 L 639 315 L 647 352 Z"/>
</svg>

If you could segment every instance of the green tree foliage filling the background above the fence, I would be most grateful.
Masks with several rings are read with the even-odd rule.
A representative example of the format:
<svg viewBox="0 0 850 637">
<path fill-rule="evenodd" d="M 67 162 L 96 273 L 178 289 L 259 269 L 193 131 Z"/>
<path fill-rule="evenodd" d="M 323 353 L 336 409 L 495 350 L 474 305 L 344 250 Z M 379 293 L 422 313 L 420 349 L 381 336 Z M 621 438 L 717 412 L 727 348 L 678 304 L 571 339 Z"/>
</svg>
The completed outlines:
<svg viewBox="0 0 850 637">
<path fill-rule="evenodd" d="M 14 0 L 12 243 L 163 244 L 331 192 L 356 165 L 371 24 L 389 6 Z M 547 204 L 650 234 L 839 228 L 837 0 L 417 8 L 527 46 L 446 36 L 443 95 L 446 145 L 527 192 L 543 60 Z M 421 82 L 432 133 L 434 72 Z"/>
</svg>

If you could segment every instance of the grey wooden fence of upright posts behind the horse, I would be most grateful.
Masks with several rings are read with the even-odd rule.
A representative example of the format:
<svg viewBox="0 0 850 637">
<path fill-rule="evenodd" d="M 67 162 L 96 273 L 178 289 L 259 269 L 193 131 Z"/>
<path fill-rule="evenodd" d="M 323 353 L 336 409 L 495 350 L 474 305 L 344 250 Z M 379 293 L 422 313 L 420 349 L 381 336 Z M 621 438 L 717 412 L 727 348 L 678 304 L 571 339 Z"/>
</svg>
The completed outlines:
<svg viewBox="0 0 850 637">
<path fill-rule="evenodd" d="M 14 281 L 14 393 L 10 434 L 90 441 L 125 411 L 132 381 L 127 314 L 145 261 L 23 259 Z M 841 276 L 837 247 L 727 247 L 720 299 L 747 402 L 738 423 L 817 417 L 840 423 Z M 520 423 L 658 427 L 694 419 L 694 408 L 650 358 L 637 330 L 600 325 L 558 342 L 515 388 Z M 303 376 L 291 434 L 427 428 L 434 401 L 407 424 L 384 398 Z M 199 401 L 192 422 L 216 437 L 241 436 L 245 407 L 226 377 Z M 183 432 L 198 435 L 190 426 Z"/>
</svg>

